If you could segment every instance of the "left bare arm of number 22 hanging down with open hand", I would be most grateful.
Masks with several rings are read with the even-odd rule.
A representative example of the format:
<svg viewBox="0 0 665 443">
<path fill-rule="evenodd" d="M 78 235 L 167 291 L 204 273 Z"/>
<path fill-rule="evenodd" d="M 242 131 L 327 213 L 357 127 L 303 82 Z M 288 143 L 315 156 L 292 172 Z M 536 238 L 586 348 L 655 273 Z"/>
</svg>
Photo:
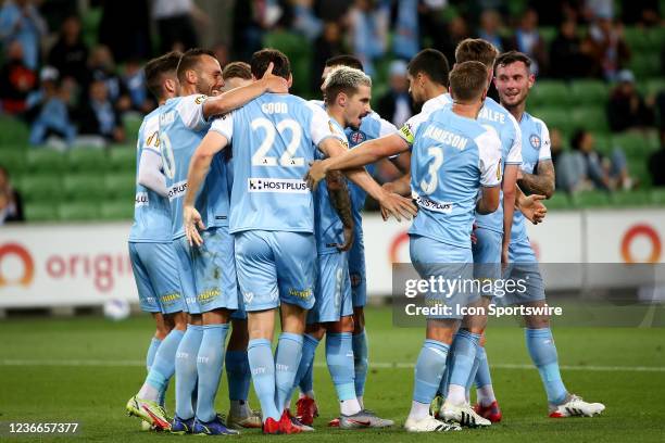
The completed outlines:
<svg viewBox="0 0 665 443">
<path fill-rule="evenodd" d="M 199 233 L 199 229 L 205 229 L 201 220 L 201 214 L 195 207 L 195 200 L 201 183 L 205 180 L 205 176 L 210 170 L 213 156 L 222 151 L 228 144 L 226 137 L 214 130 L 209 131 L 201 144 L 195 151 L 191 162 L 189 163 L 189 173 L 187 174 L 187 191 L 185 201 L 183 202 L 183 225 L 185 226 L 185 235 L 189 241 L 189 245 L 203 244 L 203 239 Z"/>
</svg>

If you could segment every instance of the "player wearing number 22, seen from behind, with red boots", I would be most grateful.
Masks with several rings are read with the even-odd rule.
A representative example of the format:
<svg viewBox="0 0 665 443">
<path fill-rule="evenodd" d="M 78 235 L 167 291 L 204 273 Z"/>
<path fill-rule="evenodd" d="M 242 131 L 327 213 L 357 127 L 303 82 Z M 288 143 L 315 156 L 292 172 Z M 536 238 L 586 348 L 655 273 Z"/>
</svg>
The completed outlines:
<svg viewBox="0 0 665 443">
<path fill-rule="evenodd" d="M 269 64 L 291 84 L 289 60 L 276 50 L 252 55 L 252 75 L 262 76 Z M 201 215 L 193 198 L 205 177 L 214 174 L 209 174 L 214 155 L 230 142 L 237 149 L 229 225 L 248 312 L 248 355 L 263 413 L 263 432 L 299 433 L 302 428 L 293 425 L 284 406 L 301 358 L 306 311 L 314 303 L 313 198 L 302 176 L 314 159 L 315 147 L 327 155 L 340 154 L 344 147 L 325 111 L 288 93 L 264 94 L 216 119 L 197 149 L 188 176 L 184 218 L 187 236 L 197 244 L 203 239 L 198 232 Z M 394 214 L 411 210 L 411 202 L 388 194 L 367 178 L 371 194 Z M 283 332 L 273 356 L 277 307 Z"/>
</svg>

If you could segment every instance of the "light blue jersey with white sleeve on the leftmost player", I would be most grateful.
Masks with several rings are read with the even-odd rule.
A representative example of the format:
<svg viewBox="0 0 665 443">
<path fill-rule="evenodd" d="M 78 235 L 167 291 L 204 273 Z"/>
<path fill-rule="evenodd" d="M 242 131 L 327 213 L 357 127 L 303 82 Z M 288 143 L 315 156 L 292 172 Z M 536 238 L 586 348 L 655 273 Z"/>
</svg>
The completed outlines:
<svg viewBox="0 0 665 443">
<path fill-rule="evenodd" d="M 136 145 L 136 175 L 143 152 L 161 155 L 159 138 L 159 109 L 146 115 L 139 128 Z M 137 179 L 138 181 L 138 179 Z M 171 210 L 168 199 L 141 185 L 136 185 L 134 224 L 129 241 L 134 243 L 171 243 Z"/>
</svg>

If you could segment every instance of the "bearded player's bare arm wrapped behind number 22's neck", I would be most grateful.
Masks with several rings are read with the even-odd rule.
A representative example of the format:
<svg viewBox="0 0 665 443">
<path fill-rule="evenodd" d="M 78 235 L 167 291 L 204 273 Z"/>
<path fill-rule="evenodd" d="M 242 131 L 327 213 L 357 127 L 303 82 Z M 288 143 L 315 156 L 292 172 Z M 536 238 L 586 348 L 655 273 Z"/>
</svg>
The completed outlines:
<svg viewBox="0 0 665 443">
<path fill-rule="evenodd" d="M 287 93 L 288 91 L 287 80 L 273 75 L 273 64 L 271 63 L 260 80 L 205 100 L 203 102 L 203 116 L 210 118 L 215 115 L 227 114 L 265 92 Z"/>
</svg>

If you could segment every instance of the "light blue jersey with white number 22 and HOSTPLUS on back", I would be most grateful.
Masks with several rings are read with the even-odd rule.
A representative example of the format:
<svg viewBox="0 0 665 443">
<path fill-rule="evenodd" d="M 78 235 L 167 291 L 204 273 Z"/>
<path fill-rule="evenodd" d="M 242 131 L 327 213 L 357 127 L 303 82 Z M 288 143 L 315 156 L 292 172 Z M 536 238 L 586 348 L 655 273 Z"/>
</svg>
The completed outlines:
<svg viewBox="0 0 665 443">
<path fill-rule="evenodd" d="M 230 232 L 314 232 L 314 202 L 303 177 L 316 145 L 339 138 L 316 104 L 263 94 L 216 119 L 211 130 L 234 144 Z"/>
</svg>

